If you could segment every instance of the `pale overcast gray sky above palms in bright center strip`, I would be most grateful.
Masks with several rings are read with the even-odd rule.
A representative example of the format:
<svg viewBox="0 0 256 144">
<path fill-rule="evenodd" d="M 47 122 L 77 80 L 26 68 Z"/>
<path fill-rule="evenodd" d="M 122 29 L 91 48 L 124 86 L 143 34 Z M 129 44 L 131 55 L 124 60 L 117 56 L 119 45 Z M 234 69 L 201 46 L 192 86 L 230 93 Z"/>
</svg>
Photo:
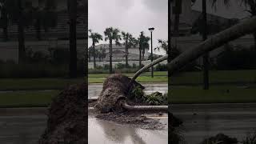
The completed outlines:
<svg viewBox="0 0 256 144">
<path fill-rule="evenodd" d="M 168 0 L 89 0 L 89 29 L 104 36 L 106 27 L 116 27 L 133 34 L 141 31 L 150 36 L 153 32 L 153 47 L 158 39 L 168 39 Z M 91 46 L 91 39 L 89 46 Z M 100 43 L 107 43 L 102 41 Z"/>
</svg>

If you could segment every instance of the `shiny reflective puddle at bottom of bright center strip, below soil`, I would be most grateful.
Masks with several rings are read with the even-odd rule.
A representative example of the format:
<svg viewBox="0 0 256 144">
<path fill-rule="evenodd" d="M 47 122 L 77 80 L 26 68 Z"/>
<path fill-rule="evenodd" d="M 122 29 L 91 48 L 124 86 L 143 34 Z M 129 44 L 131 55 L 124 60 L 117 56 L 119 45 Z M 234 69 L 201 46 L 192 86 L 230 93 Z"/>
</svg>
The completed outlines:
<svg viewBox="0 0 256 144">
<path fill-rule="evenodd" d="M 167 118 L 166 118 L 167 121 Z M 89 116 L 89 143 L 155 144 L 168 143 L 168 130 L 142 130 Z"/>
</svg>

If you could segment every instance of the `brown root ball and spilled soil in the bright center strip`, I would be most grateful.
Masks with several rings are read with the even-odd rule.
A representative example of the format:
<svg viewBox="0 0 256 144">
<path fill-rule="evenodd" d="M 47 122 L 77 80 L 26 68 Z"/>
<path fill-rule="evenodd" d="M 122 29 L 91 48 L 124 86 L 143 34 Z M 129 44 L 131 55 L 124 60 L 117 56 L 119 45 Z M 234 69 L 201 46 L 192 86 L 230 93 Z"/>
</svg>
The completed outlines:
<svg viewBox="0 0 256 144">
<path fill-rule="evenodd" d="M 126 111 L 119 105 L 120 100 L 132 103 L 129 98 L 129 92 L 135 87 L 144 87 L 138 82 L 132 82 L 131 79 L 122 74 L 112 74 L 106 78 L 103 83 L 102 92 L 98 97 L 97 102 L 93 102 L 94 108 L 98 110 L 96 118 L 103 120 L 114 121 L 122 124 L 133 124 L 143 129 L 159 130 L 164 127 L 158 120 L 146 118 L 142 116 L 143 112 Z M 89 104 L 92 106 L 93 104 Z"/>
</svg>

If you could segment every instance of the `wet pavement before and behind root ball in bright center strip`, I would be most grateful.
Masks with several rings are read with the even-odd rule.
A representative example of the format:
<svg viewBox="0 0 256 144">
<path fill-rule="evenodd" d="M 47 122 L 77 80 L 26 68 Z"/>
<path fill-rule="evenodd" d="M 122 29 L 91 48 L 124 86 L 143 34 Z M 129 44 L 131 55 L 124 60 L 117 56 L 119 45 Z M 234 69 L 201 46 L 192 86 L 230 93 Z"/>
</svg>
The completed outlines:
<svg viewBox="0 0 256 144">
<path fill-rule="evenodd" d="M 151 94 L 155 91 L 167 92 L 167 84 L 142 84 L 146 87 L 146 94 Z M 102 84 L 89 85 L 89 98 L 97 98 L 102 90 Z M 164 128 L 162 130 L 145 130 L 139 126 L 131 124 L 119 124 L 117 122 L 104 121 L 95 118 L 94 112 L 89 113 L 88 130 L 89 143 L 104 143 L 104 144 L 167 144 L 168 143 L 168 117 L 161 117 L 154 114 L 147 117 L 157 119 Z"/>
</svg>

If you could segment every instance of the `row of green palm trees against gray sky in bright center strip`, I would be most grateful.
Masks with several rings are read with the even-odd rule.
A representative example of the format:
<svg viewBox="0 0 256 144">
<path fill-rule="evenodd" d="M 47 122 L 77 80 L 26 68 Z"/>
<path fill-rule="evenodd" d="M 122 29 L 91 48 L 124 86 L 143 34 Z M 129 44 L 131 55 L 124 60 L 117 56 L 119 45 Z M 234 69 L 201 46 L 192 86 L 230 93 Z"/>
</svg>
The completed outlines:
<svg viewBox="0 0 256 144">
<path fill-rule="evenodd" d="M 101 34 L 98 34 L 97 32 L 93 32 L 92 30 L 89 30 L 90 35 L 89 38 L 92 39 L 92 46 L 89 48 L 89 55 L 93 56 L 94 58 L 94 68 L 96 67 L 96 58 L 106 58 L 106 51 L 103 51 L 103 49 L 96 50 L 95 45 L 103 40 L 103 36 Z M 113 57 L 113 50 L 112 46 L 113 43 L 115 45 L 121 46 L 122 43 L 120 42 L 123 40 L 123 45 L 125 46 L 125 58 L 126 58 L 126 68 L 129 67 L 128 64 L 128 55 L 129 55 L 129 49 L 131 47 L 138 46 L 139 50 L 139 67 L 142 67 L 142 59 L 144 59 L 145 50 L 149 49 L 149 41 L 150 37 L 145 36 L 144 32 L 142 31 L 138 38 L 134 38 L 132 34 L 125 31 L 120 31 L 118 28 L 114 27 L 108 27 L 104 31 L 105 41 L 109 42 L 109 57 L 110 57 L 110 74 L 113 73 L 112 69 L 112 57 Z M 90 57 L 89 57 L 90 58 Z"/>
</svg>

